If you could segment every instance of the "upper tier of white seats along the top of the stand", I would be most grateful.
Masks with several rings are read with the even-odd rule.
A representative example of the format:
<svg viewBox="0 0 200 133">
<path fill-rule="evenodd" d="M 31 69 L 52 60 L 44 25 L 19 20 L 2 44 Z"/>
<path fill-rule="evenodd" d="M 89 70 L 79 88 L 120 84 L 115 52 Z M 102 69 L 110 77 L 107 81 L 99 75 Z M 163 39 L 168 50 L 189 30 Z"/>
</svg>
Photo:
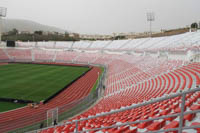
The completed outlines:
<svg viewBox="0 0 200 133">
<path fill-rule="evenodd" d="M 77 42 L 17 42 L 19 47 L 87 49 L 87 50 L 134 50 L 134 51 L 188 51 L 200 47 L 200 30 L 184 34 L 114 41 L 77 41 Z"/>
</svg>

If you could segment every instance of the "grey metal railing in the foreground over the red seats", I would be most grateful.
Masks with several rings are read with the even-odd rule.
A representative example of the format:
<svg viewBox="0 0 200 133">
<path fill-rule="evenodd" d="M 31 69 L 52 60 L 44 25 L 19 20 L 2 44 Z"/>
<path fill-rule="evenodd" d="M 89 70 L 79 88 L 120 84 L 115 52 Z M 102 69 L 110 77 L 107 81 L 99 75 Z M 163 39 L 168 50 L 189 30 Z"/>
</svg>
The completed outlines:
<svg viewBox="0 0 200 133">
<path fill-rule="evenodd" d="M 152 131 L 151 133 L 160 133 L 160 132 L 169 132 L 169 131 L 178 131 L 179 133 L 182 133 L 182 131 L 186 130 L 186 129 L 200 128 L 200 125 L 198 125 L 198 126 L 184 126 L 184 124 L 183 124 L 184 115 L 193 114 L 193 113 L 199 113 L 200 112 L 200 110 L 184 111 L 186 94 L 195 93 L 197 91 L 200 91 L 199 87 L 197 87 L 195 89 L 191 89 L 191 90 L 187 90 L 187 91 L 182 91 L 182 92 L 179 92 L 179 93 L 171 94 L 169 96 L 165 95 L 165 96 L 162 96 L 162 97 L 159 97 L 159 98 L 155 98 L 155 99 L 152 99 L 152 100 L 140 103 L 140 104 L 135 104 L 135 105 L 132 105 L 132 106 L 129 106 L 129 107 L 125 107 L 125 108 L 122 108 L 122 109 L 117 109 L 117 110 L 110 111 L 110 112 L 107 112 L 107 113 L 97 114 L 95 116 L 90 116 L 88 118 L 81 118 L 79 120 L 74 120 L 72 122 L 66 122 L 65 124 L 60 124 L 58 126 L 75 123 L 75 125 L 76 125 L 75 132 L 76 133 L 82 133 L 82 132 L 99 131 L 99 130 L 103 130 L 103 129 L 116 128 L 116 127 L 131 125 L 131 124 L 137 124 L 137 123 L 142 123 L 142 122 L 149 122 L 149 121 L 153 121 L 153 120 L 159 120 L 159 119 L 165 119 L 165 118 L 179 116 L 180 117 L 179 118 L 179 127 Z M 111 126 L 107 126 L 107 127 L 93 128 L 93 129 L 88 129 L 88 130 L 84 130 L 84 131 L 78 131 L 78 123 L 81 122 L 81 121 L 91 120 L 91 119 L 95 119 L 95 118 L 99 118 L 99 117 L 103 117 L 103 116 L 108 116 L 108 115 L 115 114 L 115 113 L 120 113 L 120 112 L 123 112 L 123 111 L 127 111 L 127 110 L 130 110 L 130 109 L 135 109 L 135 108 L 146 106 L 146 105 L 150 105 L 150 104 L 154 104 L 154 103 L 157 103 L 157 102 L 161 102 L 161 101 L 172 99 L 172 98 L 179 97 L 179 96 L 181 97 L 181 112 L 180 113 L 174 113 L 174 114 L 170 114 L 170 115 L 165 115 L 165 116 L 160 116 L 160 117 L 155 117 L 155 118 L 149 118 L 149 119 L 145 119 L 145 120 L 137 120 L 137 121 L 133 121 L 133 122 L 125 122 L 125 123 L 122 123 L 122 124 L 115 124 L 115 125 L 111 125 Z M 53 126 L 53 127 L 57 127 L 57 126 Z M 42 130 L 45 130 L 45 129 L 42 129 Z M 37 132 L 42 131 L 42 130 L 32 131 L 31 133 L 37 133 Z"/>
</svg>

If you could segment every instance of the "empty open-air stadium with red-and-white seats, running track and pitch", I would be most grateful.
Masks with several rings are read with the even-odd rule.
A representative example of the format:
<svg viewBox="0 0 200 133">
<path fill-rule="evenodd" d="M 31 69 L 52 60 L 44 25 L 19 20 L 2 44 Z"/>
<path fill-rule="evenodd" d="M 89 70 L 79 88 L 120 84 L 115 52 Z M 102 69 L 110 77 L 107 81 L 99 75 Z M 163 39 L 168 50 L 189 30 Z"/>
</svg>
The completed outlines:
<svg viewBox="0 0 200 133">
<path fill-rule="evenodd" d="M 200 24 L 183 30 L 0 38 L 0 133 L 200 133 Z"/>
</svg>

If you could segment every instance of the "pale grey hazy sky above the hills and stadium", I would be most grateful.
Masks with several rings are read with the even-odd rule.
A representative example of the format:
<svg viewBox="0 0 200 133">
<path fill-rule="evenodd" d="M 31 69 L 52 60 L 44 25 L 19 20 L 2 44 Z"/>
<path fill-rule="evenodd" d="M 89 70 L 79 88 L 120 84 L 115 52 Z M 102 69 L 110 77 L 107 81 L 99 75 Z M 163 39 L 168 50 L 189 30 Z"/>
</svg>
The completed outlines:
<svg viewBox="0 0 200 133">
<path fill-rule="evenodd" d="M 8 8 L 7 18 L 87 34 L 147 31 L 149 11 L 154 31 L 200 21 L 200 0 L 0 0 L 0 6 Z"/>
</svg>

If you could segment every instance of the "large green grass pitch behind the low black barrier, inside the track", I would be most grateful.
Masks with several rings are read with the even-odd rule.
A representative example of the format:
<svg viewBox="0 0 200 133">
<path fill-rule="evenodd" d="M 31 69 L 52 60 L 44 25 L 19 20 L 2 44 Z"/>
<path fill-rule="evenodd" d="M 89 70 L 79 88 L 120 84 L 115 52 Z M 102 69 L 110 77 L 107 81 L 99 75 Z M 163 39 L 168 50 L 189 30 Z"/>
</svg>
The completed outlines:
<svg viewBox="0 0 200 133">
<path fill-rule="evenodd" d="M 39 102 L 52 96 L 87 70 L 89 68 L 86 67 L 40 64 L 1 65 L 0 98 Z"/>
</svg>

